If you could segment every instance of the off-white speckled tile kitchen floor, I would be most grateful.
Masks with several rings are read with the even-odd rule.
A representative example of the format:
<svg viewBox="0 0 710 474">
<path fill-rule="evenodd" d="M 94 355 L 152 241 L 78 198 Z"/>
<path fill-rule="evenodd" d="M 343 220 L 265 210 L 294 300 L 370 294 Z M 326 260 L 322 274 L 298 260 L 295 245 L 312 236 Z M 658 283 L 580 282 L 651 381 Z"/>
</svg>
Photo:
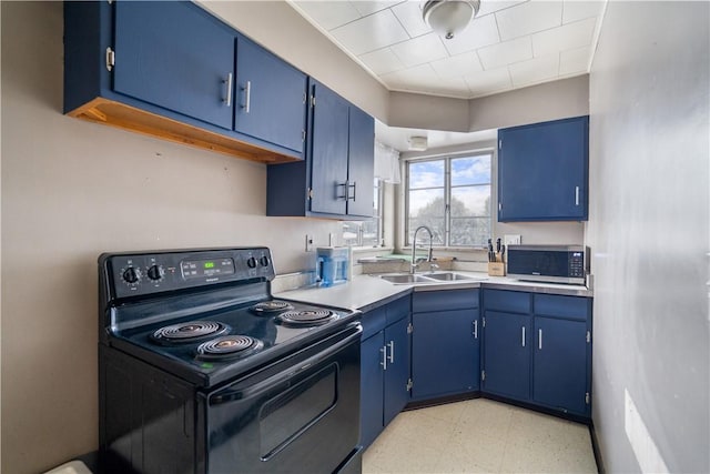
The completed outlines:
<svg viewBox="0 0 710 474">
<path fill-rule="evenodd" d="M 589 428 L 476 399 L 403 412 L 365 451 L 363 474 L 597 473 Z"/>
</svg>

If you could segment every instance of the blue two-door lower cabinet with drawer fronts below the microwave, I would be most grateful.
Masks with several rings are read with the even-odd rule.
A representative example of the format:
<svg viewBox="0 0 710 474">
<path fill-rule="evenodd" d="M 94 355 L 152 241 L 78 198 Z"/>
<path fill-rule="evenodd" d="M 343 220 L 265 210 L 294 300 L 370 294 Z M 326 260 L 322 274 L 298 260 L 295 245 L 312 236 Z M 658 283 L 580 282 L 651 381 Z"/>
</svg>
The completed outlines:
<svg viewBox="0 0 710 474">
<path fill-rule="evenodd" d="M 484 291 L 481 390 L 591 414 L 591 299 Z"/>
</svg>

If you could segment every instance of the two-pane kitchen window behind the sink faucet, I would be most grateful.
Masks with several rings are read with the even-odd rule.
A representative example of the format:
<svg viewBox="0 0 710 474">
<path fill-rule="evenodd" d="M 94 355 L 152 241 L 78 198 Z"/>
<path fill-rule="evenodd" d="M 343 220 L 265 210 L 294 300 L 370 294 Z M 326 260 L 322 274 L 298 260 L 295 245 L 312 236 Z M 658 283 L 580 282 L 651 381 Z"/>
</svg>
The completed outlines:
<svg viewBox="0 0 710 474">
<path fill-rule="evenodd" d="M 406 245 L 426 225 L 434 244 L 480 248 L 490 239 L 493 152 L 410 160 L 406 164 Z"/>
</svg>

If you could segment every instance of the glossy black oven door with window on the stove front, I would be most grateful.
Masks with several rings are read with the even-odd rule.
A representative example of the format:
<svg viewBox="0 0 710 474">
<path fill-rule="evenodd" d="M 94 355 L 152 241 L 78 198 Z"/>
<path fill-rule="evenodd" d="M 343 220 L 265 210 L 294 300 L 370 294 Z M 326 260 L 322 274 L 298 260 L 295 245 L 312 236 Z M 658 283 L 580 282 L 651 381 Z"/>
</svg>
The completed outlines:
<svg viewBox="0 0 710 474">
<path fill-rule="evenodd" d="M 357 453 L 362 326 L 211 393 L 209 473 L 331 473 Z"/>
</svg>

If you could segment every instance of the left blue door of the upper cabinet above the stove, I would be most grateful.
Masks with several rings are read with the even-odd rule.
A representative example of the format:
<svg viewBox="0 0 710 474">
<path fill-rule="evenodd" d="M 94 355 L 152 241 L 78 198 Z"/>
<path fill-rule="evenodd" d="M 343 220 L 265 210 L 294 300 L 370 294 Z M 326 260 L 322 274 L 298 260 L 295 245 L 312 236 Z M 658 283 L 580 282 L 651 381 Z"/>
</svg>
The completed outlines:
<svg viewBox="0 0 710 474">
<path fill-rule="evenodd" d="M 114 91 L 232 130 L 234 33 L 201 8 L 116 2 L 115 58 Z"/>
</svg>

